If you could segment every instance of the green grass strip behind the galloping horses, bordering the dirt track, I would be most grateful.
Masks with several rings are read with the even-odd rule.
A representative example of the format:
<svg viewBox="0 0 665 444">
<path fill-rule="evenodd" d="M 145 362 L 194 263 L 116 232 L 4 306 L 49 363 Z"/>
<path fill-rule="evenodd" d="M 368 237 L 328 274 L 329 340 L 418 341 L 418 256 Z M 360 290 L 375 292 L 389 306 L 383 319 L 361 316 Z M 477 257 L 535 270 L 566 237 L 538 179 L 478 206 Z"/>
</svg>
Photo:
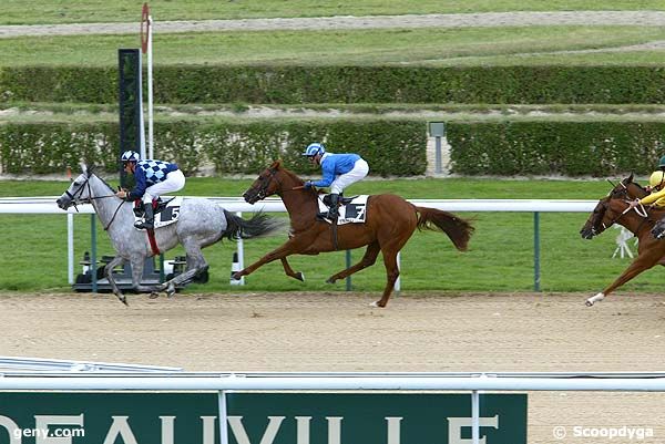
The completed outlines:
<svg viewBox="0 0 665 444">
<path fill-rule="evenodd" d="M 313 174 L 314 177 L 314 174 Z M 116 180 L 111 179 L 113 185 Z M 190 178 L 186 195 L 238 196 L 252 180 Z M 60 195 L 66 182 L 0 182 L 0 196 Z M 396 193 L 407 198 L 544 198 L 596 199 L 610 185 L 597 180 L 507 180 L 507 179 L 395 179 L 366 180 L 349 188 L 351 193 Z M 462 214 L 474 219 L 477 233 L 470 250 L 458 252 L 439 233 L 416 233 L 402 250 L 402 290 L 405 291 L 530 291 L 533 289 L 533 214 Z M 279 217 L 284 217 L 280 215 Z M 600 291 L 628 264 L 612 259 L 618 230 L 610 229 L 593 241 L 583 240 L 579 230 L 586 214 L 543 213 L 541 229 L 541 288 L 544 291 Z M 0 247 L 0 290 L 69 291 L 66 283 L 66 221 L 60 215 L 0 215 L 6 241 Z M 75 258 L 80 260 L 90 246 L 91 216 L 76 216 Z M 99 221 L 99 255 L 112 255 L 108 237 Z M 245 242 L 246 265 L 284 241 L 272 237 Z M 20 244 L 21 248 L 17 248 Z M 632 241 L 630 241 L 632 245 Z M 344 282 L 325 283 L 334 272 L 345 268 L 345 254 L 332 252 L 290 259 L 295 270 L 306 275 L 306 282 L 287 278 L 279 262 L 270 264 L 246 278 L 245 287 L 229 286 L 233 242 L 224 241 L 204 250 L 211 264 L 211 281 L 192 286 L 200 291 L 329 291 L 345 289 Z M 359 260 L 362 250 L 352 252 Z M 182 255 L 181 248 L 168 251 L 166 259 Z M 76 267 L 78 269 L 78 267 Z M 76 271 L 78 272 L 78 271 Z M 649 270 L 626 285 L 626 291 L 659 291 L 665 275 Z M 385 270 L 377 264 L 352 278 L 360 291 L 380 291 Z"/>
</svg>

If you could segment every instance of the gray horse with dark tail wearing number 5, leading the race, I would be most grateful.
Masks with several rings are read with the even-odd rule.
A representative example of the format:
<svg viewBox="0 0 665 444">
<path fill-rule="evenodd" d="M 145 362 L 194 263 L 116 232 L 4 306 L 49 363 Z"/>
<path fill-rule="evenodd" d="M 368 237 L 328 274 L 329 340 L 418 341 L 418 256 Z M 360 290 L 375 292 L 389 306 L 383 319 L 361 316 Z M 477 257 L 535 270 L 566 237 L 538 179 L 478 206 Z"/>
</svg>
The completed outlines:
<svg viewBox="0 0 665 444">
<path fill-rule="evenodd" d="M 173 296 L 176 286 L 191 282 L 204 272 L 208 265 L 201 249 L 215 244 L 222 238 L 248 239 L 269 235 L 280 230 L 283 224 L 263 213 L 257 213 L 248 220 L 221 208 L 212 200 L 187 198 L 180 208 L 178 220 L 155 229 L 155 240 L 161 251 L 167 251 L 178 244 L 185 248 L 187 268 L 185 272 L 156 287 L 141 285 L 145 258 L 153 256 L 147 235 L 134 228 L 132 204 L 115 196 L 109 184 L 98 177 L 91 166 L 84 166 L 83 173 L 70 185 L 57 204 L 68 209 L 76 204 L 92 204 L 104 229 L 109 231 L 116 256 L 111 260 L 104 273 L 113 288 L 113 293 L 127 304 L 125 296 L 113 279 L 113 269 L 130 261 L 132 265 L 132 287 L 140 292 L 151 292 L 156 297 L 160 291 Z"/>
</svg>

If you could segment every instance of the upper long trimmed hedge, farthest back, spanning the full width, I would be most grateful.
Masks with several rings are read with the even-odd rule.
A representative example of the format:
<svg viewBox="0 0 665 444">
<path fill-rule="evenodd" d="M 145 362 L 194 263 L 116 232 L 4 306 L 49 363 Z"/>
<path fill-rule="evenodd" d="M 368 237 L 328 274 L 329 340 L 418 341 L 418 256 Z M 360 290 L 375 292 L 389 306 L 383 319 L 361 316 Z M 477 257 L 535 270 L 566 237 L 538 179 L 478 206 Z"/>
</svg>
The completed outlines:
<svg viewBox="0 0 665 444">
<path fill-rule="evenodd" d="M 665 102 L 661 66 L 155 66 L 155 103 Z M 117 103 L 115 68 L 4 68 L 0 101 Z"/>
</svg>

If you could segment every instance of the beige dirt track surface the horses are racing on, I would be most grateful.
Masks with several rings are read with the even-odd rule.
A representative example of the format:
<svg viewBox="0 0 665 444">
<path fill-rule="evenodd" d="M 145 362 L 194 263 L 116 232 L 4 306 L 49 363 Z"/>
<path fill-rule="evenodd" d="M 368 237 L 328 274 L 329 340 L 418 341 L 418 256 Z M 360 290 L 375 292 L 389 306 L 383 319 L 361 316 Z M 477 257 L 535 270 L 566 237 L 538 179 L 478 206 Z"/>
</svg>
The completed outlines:
<svg viewBox="0 0 665 444">
<path fill-rule="evenodd" d="M 0 355 L 175 365 L 191 371 L 499 372 L 664 370 L 665 298 L 590 295 L 4 295 Z M 553 427 L 651 427 L 665 394 L 534 392 L 530 443 Z M 566 437 L 567 443 L 602 438 Z M 610 442 L 610 441 L 607 441 Z M 611 441 L 612 443 L 628 442 Z"/>
</svg>

